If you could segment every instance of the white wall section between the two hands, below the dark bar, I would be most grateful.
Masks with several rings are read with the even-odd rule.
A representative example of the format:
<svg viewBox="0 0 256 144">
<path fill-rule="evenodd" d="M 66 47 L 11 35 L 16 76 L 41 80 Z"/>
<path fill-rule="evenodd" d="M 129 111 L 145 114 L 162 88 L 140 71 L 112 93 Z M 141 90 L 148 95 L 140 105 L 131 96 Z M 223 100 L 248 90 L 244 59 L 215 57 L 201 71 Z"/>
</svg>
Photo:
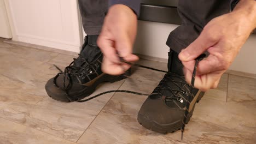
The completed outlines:
<svg viewBox="0 0 256 144">
<path fill-rule="evenodd" d="M 165 44 L 173 29 L 178 25 L 159 22 L 138 22 L 138 34 L 133 52 L 141 55 L 168 59 L 169 47 Z"/>
</svg>

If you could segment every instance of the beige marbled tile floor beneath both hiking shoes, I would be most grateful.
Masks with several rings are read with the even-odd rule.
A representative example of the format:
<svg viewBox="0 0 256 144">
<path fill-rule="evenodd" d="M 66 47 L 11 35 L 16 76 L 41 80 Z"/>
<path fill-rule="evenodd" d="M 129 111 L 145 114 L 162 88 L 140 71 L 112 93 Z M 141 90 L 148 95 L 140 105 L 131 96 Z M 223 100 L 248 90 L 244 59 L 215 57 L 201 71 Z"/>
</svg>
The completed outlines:
<svg viewBox="0 0 256 144">
<path fill-rule="evenodd" d="M 75 56 L 74 56 L 75 57 Z M 217 89 L 196 105 L 186 127 L 162 135 L 143 128 L 137 112 L 145 96 L 106 94 L 86 103 L 50 99 L 45 82 L 72 56 L 3 43 L 0 39 L 0 143 L 256 143 L 256 79 L 224 74 Z M 166 70 L 166 63 L 139 63 Z M 104 83 L 110 89 L 150 93 L 163 73 L 137 68 L 133 75 Z"/>
</svg>

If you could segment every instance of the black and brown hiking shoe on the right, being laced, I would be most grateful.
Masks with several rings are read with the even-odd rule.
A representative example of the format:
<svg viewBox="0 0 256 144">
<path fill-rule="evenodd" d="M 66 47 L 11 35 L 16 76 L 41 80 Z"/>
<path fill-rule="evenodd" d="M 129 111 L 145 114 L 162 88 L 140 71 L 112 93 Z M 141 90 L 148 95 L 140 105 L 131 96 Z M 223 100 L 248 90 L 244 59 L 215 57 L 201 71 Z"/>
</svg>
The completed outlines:
<svg viewBox="0 0 256 144">
<path fill-rule="evenodd" d="M 171 56 L 172 53 L 173 56 Z M 185 124 L 189 122 L 195 103 L 200 101 L 204 92 L 191 88 L 185 81 L 182 68 L 178 54 L 169 52 L 168 73 L 144 101 L 138 112 L 137 119 L 143 127 L 164 134 L 181 129 L 189 95 L 193 95 L 195 97 L 190 103 Z"/>
</svg>

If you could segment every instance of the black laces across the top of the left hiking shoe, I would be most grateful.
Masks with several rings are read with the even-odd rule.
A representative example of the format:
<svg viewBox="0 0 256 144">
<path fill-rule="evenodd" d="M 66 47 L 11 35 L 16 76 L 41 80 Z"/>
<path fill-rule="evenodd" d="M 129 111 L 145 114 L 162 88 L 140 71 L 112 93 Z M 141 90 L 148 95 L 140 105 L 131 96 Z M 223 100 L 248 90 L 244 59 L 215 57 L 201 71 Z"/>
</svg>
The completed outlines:
<svg viewBox="0 0 256 144">
<path fill-rule="evenodd" d="M 57 87 L 65 90 L 65 91 L 67 91 L 70 88 L 70 86 L 72 85 L 72 80 L 71 80 L 72 76 L 79 75 L 80 77 L 82 77 L 83 75 L 89 75 L 92 73 L 96 73 L 95 64 L 88 62 L 88 60 L 80 54 L 78 55 L 78 58 L 73 58 L 73 62 L 71 62 L 65 68 L 64 71 L 62 71 L 56 65 L 54 65 L 54 66 L 60 70 L 60 73 L 58 73 L 54 77 L 54 85 L 57 86 L 57 83 L 56 83 L 57 77 L 59 77 L 60 75 L 63 74 L 63 79 L 62 79 L 63 87 L 59 87 L 59 86 L 57 86 Z"/>
</svg>

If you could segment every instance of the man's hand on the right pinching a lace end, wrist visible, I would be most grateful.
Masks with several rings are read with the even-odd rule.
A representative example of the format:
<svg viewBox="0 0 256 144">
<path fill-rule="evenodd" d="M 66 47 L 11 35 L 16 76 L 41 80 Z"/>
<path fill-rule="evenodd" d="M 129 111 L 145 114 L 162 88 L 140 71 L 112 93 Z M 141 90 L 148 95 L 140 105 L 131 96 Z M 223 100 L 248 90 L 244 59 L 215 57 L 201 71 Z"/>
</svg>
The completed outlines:
<svg viewBox="0 0 256 144">
<path fill-rule="evenodd" d="M 202 91 L 216 88 L 220 77 L 255 27 L 255 1 L 240 1 L 231 13 L 211 20 L 200 36 L 179 54 L 187 82 L 191 82 L 194 59 L 208 51 L 210 55 L 199 62 L 197 67 L 195 87 Z"/>
</svg>

